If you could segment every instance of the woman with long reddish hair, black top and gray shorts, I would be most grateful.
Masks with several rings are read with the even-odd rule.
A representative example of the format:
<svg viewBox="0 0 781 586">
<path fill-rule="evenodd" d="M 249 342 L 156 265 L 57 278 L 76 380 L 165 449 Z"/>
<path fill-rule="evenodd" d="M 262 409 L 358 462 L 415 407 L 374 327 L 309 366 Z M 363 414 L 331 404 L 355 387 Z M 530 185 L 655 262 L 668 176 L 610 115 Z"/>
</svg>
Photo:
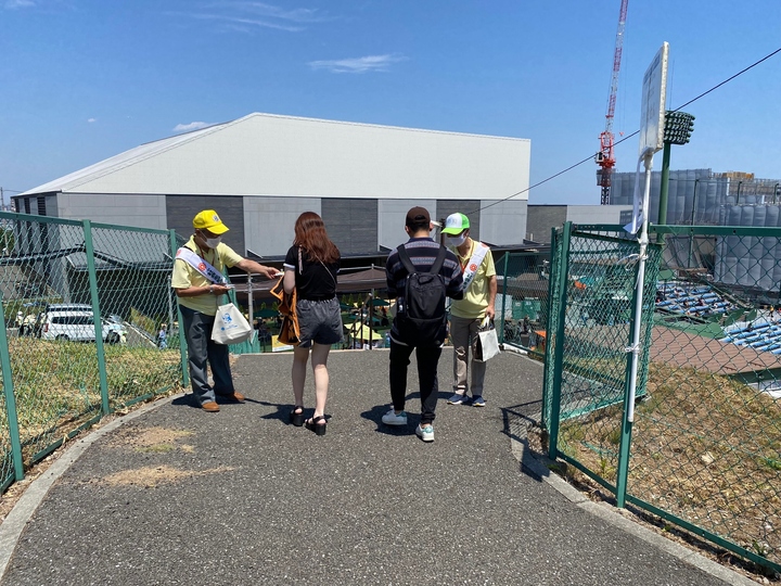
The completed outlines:
<svg viewBox="0 0 781 586">
<path fill-rule="evenodd" d="M 294 425 L 306 424 L 318 435 L 325 434 L 328 397 L 328 355 L 332 344 L 342 341 L 342 314 L 336 298 L 336 275 L 341 255 L 315 212 L 305 212 L 295 224 L 295 239 L 284 262 L 285 293 L 296 290 L 296 315 L 300 343 L 293 351 L 293 397 L 290 413 Z M 311 351 L 315 375 L 315 413 L 304 418 L 304 383 Z"/>
</svg>

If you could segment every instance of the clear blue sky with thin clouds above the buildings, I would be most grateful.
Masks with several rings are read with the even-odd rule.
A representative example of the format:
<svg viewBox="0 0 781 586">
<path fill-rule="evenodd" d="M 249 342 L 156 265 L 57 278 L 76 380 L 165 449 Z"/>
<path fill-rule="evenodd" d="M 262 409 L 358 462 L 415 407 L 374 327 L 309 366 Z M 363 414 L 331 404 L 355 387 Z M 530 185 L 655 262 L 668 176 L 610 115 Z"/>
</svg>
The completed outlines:
<svg viewBox="0 0 781 586">
<path fill-rule="evenodd" d="M 534 184 L 599 148 L 619 4 L 0 0 L 0 187 L 8 199 L 252 112 L 527 138 Z M 663 41 L 677 107 L 781 48 L 779 33 L 780 0 L 629 0 L 617 139 L 639 127 Z M 781 178 L 779 95 L 781 53 L 686 109 L 695 129 L 671 167 Z M 617 170 L 637 151 L 637 137 L 620 144 Z M 598 204 L 596 169 L 529 202 Z"/>
</svg>

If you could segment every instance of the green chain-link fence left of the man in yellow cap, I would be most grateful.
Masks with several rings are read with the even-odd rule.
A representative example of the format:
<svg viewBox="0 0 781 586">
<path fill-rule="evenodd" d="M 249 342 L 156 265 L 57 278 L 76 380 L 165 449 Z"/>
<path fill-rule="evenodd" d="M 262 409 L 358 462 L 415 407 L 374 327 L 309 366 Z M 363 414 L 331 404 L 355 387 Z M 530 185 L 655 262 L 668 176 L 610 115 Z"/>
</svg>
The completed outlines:
<svg viewBox="0 0 781 586">
<path fill-rule="evenodd" d="M 0 226 L 4 491 L 64 437 L 175 387 L 183 346 L 172 232 L 9 213 Z"/>
</svg>

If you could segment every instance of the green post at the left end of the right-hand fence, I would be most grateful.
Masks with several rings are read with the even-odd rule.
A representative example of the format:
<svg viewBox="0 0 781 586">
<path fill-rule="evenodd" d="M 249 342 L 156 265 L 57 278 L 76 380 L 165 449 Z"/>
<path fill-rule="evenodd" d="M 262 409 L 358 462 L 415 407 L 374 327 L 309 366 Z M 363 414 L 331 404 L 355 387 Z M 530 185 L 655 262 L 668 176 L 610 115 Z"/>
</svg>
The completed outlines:
<svg viewBox="0 0 781 586">
<path fill-rule="evenodd" d="M 559 418 L 561 416 L 561 384 L 564 365 L 564 328 L 566 324 L 566 285 L 567 285 L 567 273 L 569 272 L 569 240 L 572 238 L 572 221 L 564 222 L 564 229 L 562 231 L 562 251 L 561 258 L 559 260 L 559 270 L 555 279 L 558 280 L 559 286 L 559 311 L 556 331 L 548 331 L 548 340 L 546 344 L 554 344 L 554 357 L 553 357 L 553 385 L 551 388 L 551 420 L 550 428 L 548 430 L 548 456 L 554 460 L 559 455 Z M 553 267 L 553 259 L 551 257 L 551 268 Z M 553 289 L 553 273 L 550 275 L 549 291 Z M 552 301 L 552 296 L 549 295 Z M 549 304 L 550 307 L 550 304 Z M 551 313 L 552 314 L 552 313 Z M 552 323 L 553 317 L 549 314 L 548 323 Z"/>
</svg>

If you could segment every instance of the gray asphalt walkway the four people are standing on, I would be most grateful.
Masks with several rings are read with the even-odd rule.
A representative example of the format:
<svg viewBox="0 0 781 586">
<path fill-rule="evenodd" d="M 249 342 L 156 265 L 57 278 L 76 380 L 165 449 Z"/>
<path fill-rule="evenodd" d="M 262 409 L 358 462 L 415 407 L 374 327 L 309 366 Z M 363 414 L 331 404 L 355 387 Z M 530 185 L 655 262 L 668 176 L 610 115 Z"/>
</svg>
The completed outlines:
<svg viewBox="0 0 781 586">
<path fill-rule="evenodd" d="M 323 437 L 286 424 L 291 362 L 240 357 L 244 405 L 213 415 L 179 396 L 75 442 L 0 525 L 0 586 L 755 584 L 524 455 L 537 362 L 492 360 L 484 409 L 446 405 L 445 383 L 433 444 L 414 435 L 417 393 L 409 429 L 380 422 L 385 351 L 331 355 Z"/>
</svg>

